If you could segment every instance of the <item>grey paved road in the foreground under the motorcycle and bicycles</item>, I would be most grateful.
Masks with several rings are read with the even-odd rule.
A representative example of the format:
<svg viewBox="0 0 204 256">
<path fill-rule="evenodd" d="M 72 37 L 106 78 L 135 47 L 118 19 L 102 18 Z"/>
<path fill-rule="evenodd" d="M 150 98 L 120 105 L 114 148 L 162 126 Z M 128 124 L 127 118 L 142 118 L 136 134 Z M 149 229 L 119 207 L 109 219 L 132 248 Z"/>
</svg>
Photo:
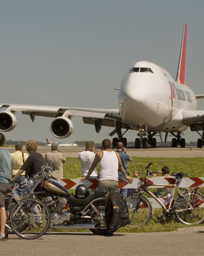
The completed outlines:
<svg viewBox="0 0 204 256">
<path fill-rule="evenodd" d="M 158 233 L 115 233 L 113 237 L 92 233 L 51 233 L 36 240 L 15 235 L 0 242 L 1 256 L 197 256 L 204 252 L 204 226 Z"/>
</svg>

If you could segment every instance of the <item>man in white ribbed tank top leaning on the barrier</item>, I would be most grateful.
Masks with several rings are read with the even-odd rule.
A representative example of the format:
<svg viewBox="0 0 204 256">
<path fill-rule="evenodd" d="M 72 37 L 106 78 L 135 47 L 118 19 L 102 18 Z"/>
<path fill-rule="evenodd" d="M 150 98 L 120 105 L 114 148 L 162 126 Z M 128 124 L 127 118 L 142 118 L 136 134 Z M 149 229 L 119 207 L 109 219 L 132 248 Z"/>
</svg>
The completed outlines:
<svg viewBox="0 0 204 256">
<path fill-rule="evenodd" d="M 89 179 L 89 176 L 96 168 L 97 163 L 99 165 L 99 182 L 98 188 L 107 188 L 109 191 L 117 190 L 118 185 L 118 169 L 121 170 L 126 180 L 132 183 L 132 177 L 125 173 L 120 156 L 117 152 L 111 149 L 111 141 L 105 139 L 102 142 L 103 151 L 96 153 L 91 168 L 88 171 L 87 176 L 81 177 L 80 181 Z"/>
</svg>

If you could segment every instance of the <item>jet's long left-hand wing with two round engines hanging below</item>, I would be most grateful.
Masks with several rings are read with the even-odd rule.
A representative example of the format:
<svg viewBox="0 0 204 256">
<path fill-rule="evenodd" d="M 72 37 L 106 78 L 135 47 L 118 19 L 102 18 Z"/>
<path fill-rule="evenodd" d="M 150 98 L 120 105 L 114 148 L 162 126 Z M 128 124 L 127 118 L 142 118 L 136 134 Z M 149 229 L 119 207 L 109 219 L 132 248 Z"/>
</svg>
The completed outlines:
<svg viewBox="0 0 204 256">
<path fill-rule="evenodd" d="M 0 108 L 6 108 L 0 112 L 0 131 L 11 131 L 16 126 L 16 111 L 24 115 L 29 115 L 32 122 L 35 116 L 45 116 L 55 118 L 50 130 L 57 138 L 66 138 L 73 132 L 73 123 L 70 120 L 73 116 L 83 118 L 85 124 L 95 125 L 96 132 L 99 132 L 101 126 L 115 127 L 120 123 L 124 129 L 132 129 L 123 122 L 118 109 L 90 109 L 90 108 L 73 108 L 62 106 L 40 106 L 40 105 L 18 105 L 18 104 L 0 104 Z M 60 130 L 61 129 L 61 130 Z M 111 132 L 113 135 L 116 132 Z M 62 136 L 62 134 L 64 134 Z M 111 136 L 112 136 L 111 135 Z"/>
</svg>

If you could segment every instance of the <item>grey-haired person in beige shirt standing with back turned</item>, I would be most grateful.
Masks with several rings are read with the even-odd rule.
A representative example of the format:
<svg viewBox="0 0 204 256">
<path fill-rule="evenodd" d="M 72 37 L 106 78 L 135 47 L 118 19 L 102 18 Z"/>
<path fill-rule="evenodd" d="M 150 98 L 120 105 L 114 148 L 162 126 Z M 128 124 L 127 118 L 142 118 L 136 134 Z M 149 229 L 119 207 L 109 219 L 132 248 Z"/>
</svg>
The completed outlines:
<svg viewBox="0 0 204 256">
<path fill-rule="evenodd" d="M 45 154 L 45 162 L 49 163 L 52 157 L 54 158 L 54 163 L 52 165 L 52 168 L 53 168 L 52 176 L 55 177 L 56 179 L 64 179 L 62 165 L 63 163 L 66 162 L 66 158 L 60 152 L 58 142 L 53 142 L 51 144 L 51 151 Z"/>
</svg>

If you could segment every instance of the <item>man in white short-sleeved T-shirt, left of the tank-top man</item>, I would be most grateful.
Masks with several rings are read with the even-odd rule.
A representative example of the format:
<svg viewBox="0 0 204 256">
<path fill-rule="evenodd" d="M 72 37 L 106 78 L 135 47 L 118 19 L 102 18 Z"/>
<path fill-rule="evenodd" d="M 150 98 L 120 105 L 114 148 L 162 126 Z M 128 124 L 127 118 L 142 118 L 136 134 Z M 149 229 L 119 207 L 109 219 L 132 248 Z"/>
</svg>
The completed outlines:
<svg viewBox="0 0 204 256">
<path fill-rule="evenodd" d="M 79 161 L 81 163 L 81 176 L 87 176 L 87 173 L 92 166 L 93 160 L 95 158 L 95 146 L 92 141 L 87 141 L 86 148 L 84 151 L 79 153 Z M 97 178 L 98 174 L 96 168 L 90 175 L 90 179 Z"/>
</svg>

